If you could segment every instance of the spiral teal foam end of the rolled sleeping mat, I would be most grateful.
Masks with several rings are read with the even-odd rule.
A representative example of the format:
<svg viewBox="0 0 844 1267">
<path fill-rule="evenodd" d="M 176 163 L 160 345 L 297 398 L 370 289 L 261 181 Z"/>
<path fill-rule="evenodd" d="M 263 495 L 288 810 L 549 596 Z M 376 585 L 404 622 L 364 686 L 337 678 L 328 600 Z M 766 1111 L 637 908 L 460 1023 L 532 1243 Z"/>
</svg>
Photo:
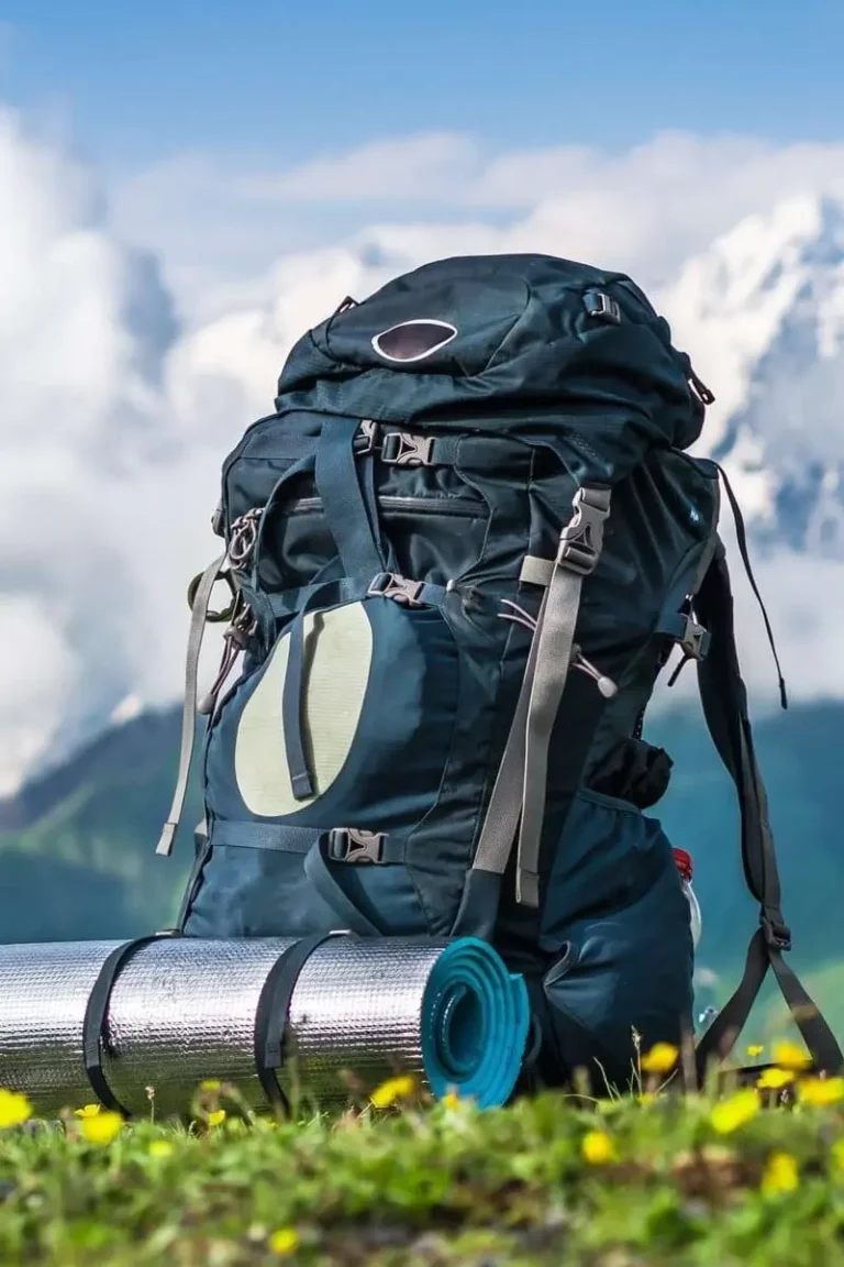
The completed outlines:
<svg viewBox="0 0 844 1267">
<path fill-rule="evenodd" d="M 421 1047 L 433 1095 L 448 1091 L 481 1109 L 505 1104 L 530 1030 L 524 978 L 478 938 L 458 938 L 438 958 L 423 998 Z"/>
</svg>

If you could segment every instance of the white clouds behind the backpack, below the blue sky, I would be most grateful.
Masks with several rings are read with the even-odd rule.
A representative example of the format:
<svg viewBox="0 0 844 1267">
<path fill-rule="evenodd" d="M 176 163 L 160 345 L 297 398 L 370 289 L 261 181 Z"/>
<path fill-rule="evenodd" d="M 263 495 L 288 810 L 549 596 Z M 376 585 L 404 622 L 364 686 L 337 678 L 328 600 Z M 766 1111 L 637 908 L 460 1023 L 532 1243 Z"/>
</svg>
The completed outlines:
<svg viewBox="0 0 844 1267">
<path fill-rule="evenodd" d="M 344 295 L 434 257 L 537 250 L 654 286 L 742 215 L 843 177 L 844 144 L 496 155 L 440 136 L 281 174 L 187 156 L 124 179 L 108 215 L 89 170 L 0 114 L 0 787 L 137 708 L 127 697 L 176 697 L 221 460 Z M 840 569 L 772 566 L 796 693 L 844 694 Z M 749 677 L 769 691 L 758 632 Z"/>
</svg>

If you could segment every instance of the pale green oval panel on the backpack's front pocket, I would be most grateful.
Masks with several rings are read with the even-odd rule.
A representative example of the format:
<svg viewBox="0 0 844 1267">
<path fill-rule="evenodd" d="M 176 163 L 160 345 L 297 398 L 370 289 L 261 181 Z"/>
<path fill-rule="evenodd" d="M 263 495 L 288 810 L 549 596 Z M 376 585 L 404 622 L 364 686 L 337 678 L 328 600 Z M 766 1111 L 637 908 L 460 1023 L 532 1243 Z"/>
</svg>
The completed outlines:
<svg viewBox="0 0 844 1267">
<path fill-rule="evenodd" d="M 249 811 L 262 818 L 296 813 L 338 777 L 361 720 L 372 666 L 372 626 L 361 603 L 305 617 L 302 737 L 316 794 L 296 801 L 290 787 L 281 702 L 290 637 L 271 653 L 240 716 L 234 777 Z"/>
</svg>

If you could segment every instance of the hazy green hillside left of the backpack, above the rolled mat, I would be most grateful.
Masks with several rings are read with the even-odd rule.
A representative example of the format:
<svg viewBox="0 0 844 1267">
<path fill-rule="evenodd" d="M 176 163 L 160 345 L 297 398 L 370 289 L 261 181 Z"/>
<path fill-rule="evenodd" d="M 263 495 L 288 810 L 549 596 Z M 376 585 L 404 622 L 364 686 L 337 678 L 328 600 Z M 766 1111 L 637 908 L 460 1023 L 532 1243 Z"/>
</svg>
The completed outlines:
<svg viewBox="0 0 844 1267">
<path fill-rule="evenodd" d="M 178 751 L 175 712 L 104 735 L 0 803 L 0 941 L 87 940 L 172 922 L 191 855 L 157 858 Z M 200 817 L 194 791 L 186 825 Z"/>
</svg>

